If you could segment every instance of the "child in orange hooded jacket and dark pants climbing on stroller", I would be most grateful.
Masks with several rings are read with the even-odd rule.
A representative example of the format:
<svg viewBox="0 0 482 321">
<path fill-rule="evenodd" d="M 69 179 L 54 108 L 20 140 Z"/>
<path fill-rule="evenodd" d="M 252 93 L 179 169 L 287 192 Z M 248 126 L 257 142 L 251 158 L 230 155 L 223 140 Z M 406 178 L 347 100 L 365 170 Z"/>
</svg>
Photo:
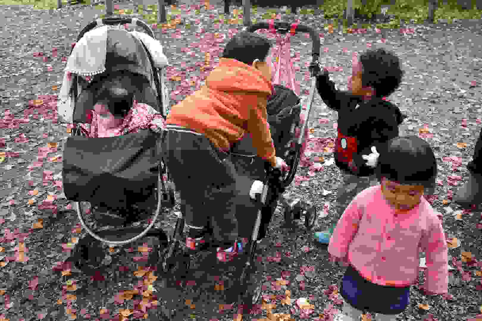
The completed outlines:
<svg viewBox="0 0 482 321">
<path fill-rule="evenodd" d="M 173 106 L 166 119 L 165 160 L 180 192 L 188 248 L 206 243 L 210 225 L 222 247 L 239 236 L 236 205 L 250 201 L 263 187 L 261 181 L 237 175 L 228 157 L 246 132 L 260 157 L 286 168 L 275 155 L 267 122 L 270 48 L 268 39 L 254 33 L 234 36 L 205 86 Z"/>
</svg>

